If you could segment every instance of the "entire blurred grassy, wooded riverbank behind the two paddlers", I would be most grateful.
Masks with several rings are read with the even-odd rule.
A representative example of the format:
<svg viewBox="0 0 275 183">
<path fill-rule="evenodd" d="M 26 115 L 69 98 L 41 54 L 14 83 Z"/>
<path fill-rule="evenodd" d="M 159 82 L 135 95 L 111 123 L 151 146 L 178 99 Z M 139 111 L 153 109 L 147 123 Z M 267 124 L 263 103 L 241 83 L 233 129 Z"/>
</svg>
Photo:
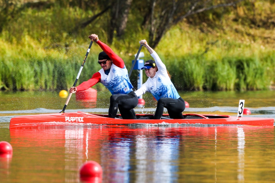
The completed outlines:
<svg viewBox="0 0 275 183">
<path fill-rule="evenodd" d="M 274 0 L 0 0 L 0 88 L 67 90 L 95 33 L 128 71 L 146 39 L 178 90 L 273 89 L 274 15 Z M 78 84 L 101 68 L 100 51 L 92 45 Z"/>
</svg>

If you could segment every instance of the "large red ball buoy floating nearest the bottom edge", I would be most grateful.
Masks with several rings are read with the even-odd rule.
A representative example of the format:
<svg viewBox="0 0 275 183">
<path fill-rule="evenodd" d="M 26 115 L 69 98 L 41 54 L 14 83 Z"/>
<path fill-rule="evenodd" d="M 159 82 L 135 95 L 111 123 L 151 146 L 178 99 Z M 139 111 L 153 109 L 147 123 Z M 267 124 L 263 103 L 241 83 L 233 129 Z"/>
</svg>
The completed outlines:
<svg viewBox="0 0 275 183">
<path fill-rule="evenodd" d="M 80 177 L 102 177 L 102 168 L 95 161 L 88 161 L 80 168 Z"/>
</svg>

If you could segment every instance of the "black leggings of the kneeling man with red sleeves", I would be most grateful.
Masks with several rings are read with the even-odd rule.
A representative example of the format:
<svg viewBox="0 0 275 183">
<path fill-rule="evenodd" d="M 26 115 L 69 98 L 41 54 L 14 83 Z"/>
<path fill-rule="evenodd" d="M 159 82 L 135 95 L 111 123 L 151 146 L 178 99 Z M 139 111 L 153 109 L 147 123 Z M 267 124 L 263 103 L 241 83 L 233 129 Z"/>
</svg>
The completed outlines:
<svg viewBox="0 0 275 183">
<path fill-rule="evenodd" d="M 123 119 L 136 120 L 133 108 L 137 106 L 138 98 L 134 91 L 129 94 L 114 94 L 110 97 L 109 117 L 115 118 L 119 109 Z"/>
</svg>

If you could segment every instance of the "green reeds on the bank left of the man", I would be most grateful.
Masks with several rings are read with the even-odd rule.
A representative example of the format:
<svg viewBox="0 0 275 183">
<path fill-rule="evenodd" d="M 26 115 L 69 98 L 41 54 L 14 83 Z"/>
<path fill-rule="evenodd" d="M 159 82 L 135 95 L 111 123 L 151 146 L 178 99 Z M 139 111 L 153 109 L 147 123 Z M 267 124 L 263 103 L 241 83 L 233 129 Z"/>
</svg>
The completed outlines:
<svg viewBox="0 0 275 183">
<path fill-rule="evenodd" d="M 87 48 L 88 45 L 89 42 Z M 19 46 L 6 44 L 5 49 L 2 49 L 7 52 L 3 51 L 0 55 L 1 89 L 53 91 L 68 89 L 73 85 L 86 53 L 82 46 L 82 58 L 53 50 L 45 52 L 42 49 L 29 49 L 29 46 L 20 50 Z M 11 54 L 12 51 L 14 54 Z M 97 53 L 90 54 L 79 82 L 88 80 L 99 69 Z"/>
</svg>

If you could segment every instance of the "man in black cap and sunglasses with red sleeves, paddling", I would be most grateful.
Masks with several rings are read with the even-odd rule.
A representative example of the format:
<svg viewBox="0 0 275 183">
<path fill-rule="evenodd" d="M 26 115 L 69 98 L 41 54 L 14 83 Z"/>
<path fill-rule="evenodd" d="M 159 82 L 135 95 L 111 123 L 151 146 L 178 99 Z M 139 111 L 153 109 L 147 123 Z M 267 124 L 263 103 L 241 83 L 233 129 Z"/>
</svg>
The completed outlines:
<svg viewBox="0 0 275 183">
<path fill-rule="evenodd" d="M 99 53 L 97 61 L 102 69 L 94 73 L 88 81 L 77 87 L 71 87 L 70 93 L 84 91 L 96 83 L 102 83 L 112 94 L 109 117 L 115 118 L 117 109 L 119 109 L 123 119 L 137 119 L 133 108 L 137 106 L 138 98 L 132 90 L 133 86 L 129 80 L 124 61 L 109 46 L 101 42 L 96 34 L 90 35 L 89 38 L 103 50 Z"/>
</svg>

